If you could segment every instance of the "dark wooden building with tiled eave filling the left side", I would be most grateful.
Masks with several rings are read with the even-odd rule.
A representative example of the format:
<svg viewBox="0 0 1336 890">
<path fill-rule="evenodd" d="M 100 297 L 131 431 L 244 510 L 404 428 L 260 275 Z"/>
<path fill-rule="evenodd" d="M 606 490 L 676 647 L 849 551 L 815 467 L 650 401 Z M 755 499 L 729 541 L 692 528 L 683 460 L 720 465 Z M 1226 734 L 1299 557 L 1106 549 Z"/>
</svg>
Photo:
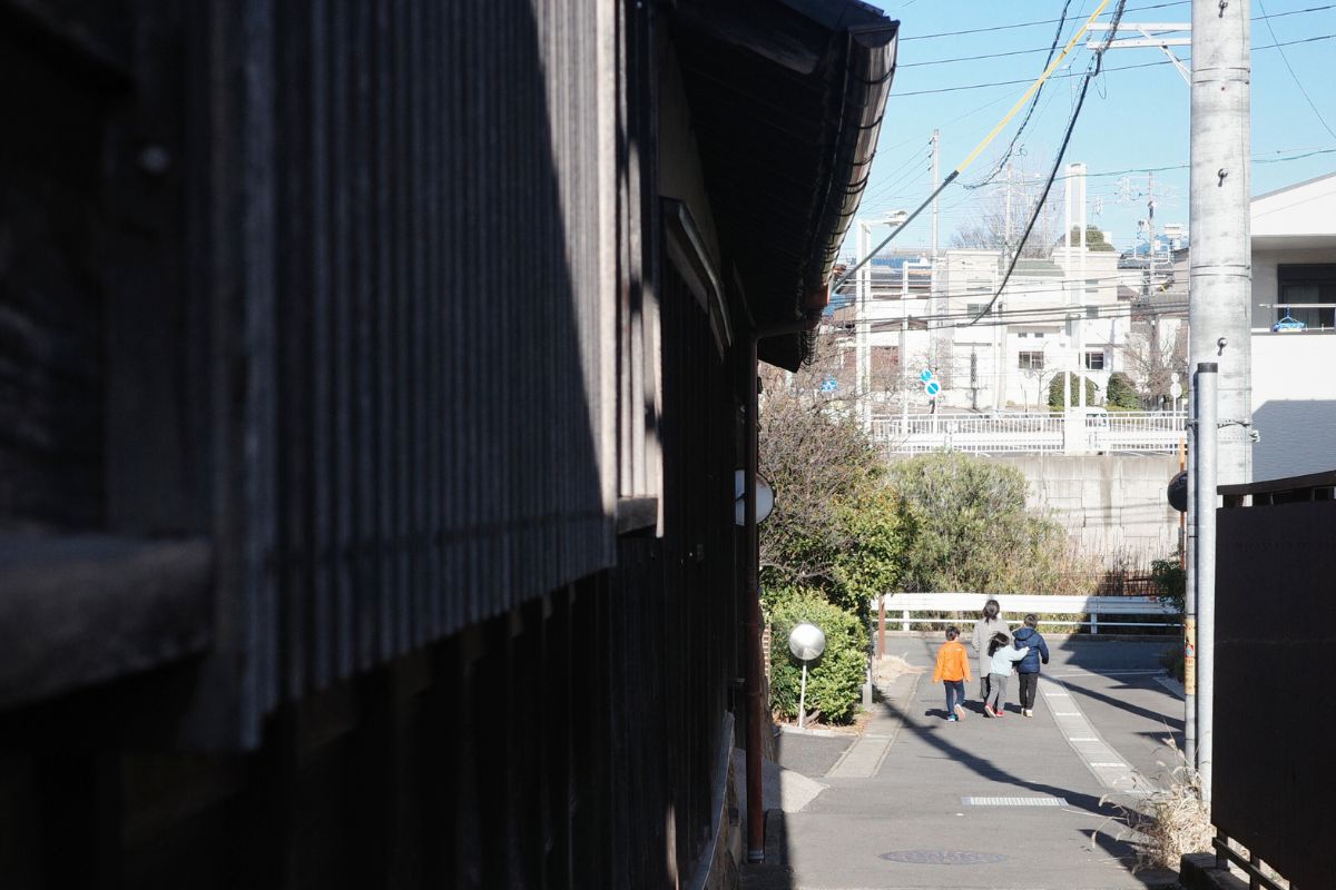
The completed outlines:
<svg viewBox="0 0 1336 890">
<path fill-rule="evenodd" d="M 760 358 L 854 0 L 0 0 L 0 886 L 668 887 L 739 842 Z"/>
</svg>

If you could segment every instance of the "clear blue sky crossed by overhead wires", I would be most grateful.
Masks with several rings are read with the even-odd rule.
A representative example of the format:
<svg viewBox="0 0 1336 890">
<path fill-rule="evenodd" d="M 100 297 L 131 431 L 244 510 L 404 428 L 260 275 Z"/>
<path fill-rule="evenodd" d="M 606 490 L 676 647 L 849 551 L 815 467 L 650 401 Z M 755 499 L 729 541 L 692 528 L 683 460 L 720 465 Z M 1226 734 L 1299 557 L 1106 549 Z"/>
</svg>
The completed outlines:
<svg viewBox="0 0 1336 890">
<path fill-rule="evenodd" d="M 860 217 L 912 209 L 929 195 L 929 140 L 934 127 L 941 131 L 942 176 L 974 149 L 1023 95 L 1030 80 L 1042 72 L 1058 27 L 1055 20 L 1063 7 L 1062 0 L 874 3 L 900 20 L 899 69 L 886 104 L 886 123 Z M 1063 44 L 1097 5 L 1098 0 L 1071 0 L 1062 29 Z M 1108 21 L 1114 5 L 1109 4 L 1104 21 Z M 1336 135 L 1328 129 L 1336 129 L 1336 92 L 1331 89 L 1336 71 L 1332 65 L 1336 60 L 1336 0 L 1252 0 L 1249 7 L 1255 19 L 1264 12 L 1271 16 L 1252 23 L 1252 191 L 1260 195 L 1336 171 Z M 1315 11 L 1305 12 L 1309 9 Z M 1192 4 L 1186 0 L 1128 0 L 1124 21 L 1189 21 L 1190 17 Z M 1035 21 L 1043 24 L 1005 27 Z M 989 31 L 935 36 L 981 28 Z M 1289 45 L 1265 48 L 1275 43 Z M 1031 179 L 1047 173 L 1061 143 L 1081 81 L 1079 77 L 1058 79 L 1057 75 L 1069 71 L 1079 73 L 1088 68 L 1092 52 L 1083 45 L 1085 39 L 1045 87 L 1021 136 L 1023 155 L 1014 161 Z M 923 64 L 994 53 L 1017 55 Z M 1176 53 L 1186 59 L 1190 47 L 1178 47 Z M 1325 125 L 1296 87 L 1285 59 L 1325 119 Z M 1129 68 L 1132 65 L 1144 67 Z M 1105 73 L 1092 84 L 1086 96 L 1063 163 L 1085 161 L 1090 173 L 1090 221 L 1109 231 L 1114 244 L 1126 250 L 1136 242 L 1137 220 L 1146 215 L 1148 171 L 1154 169 L 1158 192 L 1157 224 L 1188 223 L 1189 89 L 1165 55 L 1153 47 L 1110 51 L 1104 67 Z M 1026 83 L 925 92 L 1022 79 Z M 951 235 L 962 223 L 977 217 L 983 201 L 998 200 L 1001 189 L 967 191 L 958 183 L 973 183 L 990 172 L 1022 116 L 1023 112 L 1018 113 L 979 160 L 942 193 L 939 231 L 943 247 L 950 246 Z M 1305 153 L 1308 156 L 1301 157 Z M 1061 183 L 1061 179 L 1054 183 L 1055 193 L 1059 193 Z M 1061 197 L 1058 201 L 1061 207 Z M 927 246 L 929 232 L 929 215 L 925 212 L 896 236 L 892 246 Z M 843 252 L 852 254 L 852 248 L 851 235 Z"/>
</svg>

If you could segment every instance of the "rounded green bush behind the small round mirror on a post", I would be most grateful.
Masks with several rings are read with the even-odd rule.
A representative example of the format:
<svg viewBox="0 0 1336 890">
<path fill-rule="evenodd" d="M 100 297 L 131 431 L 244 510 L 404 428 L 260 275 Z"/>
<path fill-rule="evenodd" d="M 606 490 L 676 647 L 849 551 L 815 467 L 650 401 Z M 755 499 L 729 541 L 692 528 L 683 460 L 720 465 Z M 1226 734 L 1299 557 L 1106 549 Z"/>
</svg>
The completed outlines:
<svg viewBox="0 0 1336 890">
<path fill-rule="evenodd" d="M 767 592 L 771 624 L 770 701 L 786 718 L 798 717 L 803 663 L 788 651 L 788 634 L 810 622 L 826 634 L 826 652 L 807 667 L 807 711 L 828 723 L 848 723 L 862 701 L 867 673 L 867 626 L 822 591 L 786 587 Z"/>
</svg>

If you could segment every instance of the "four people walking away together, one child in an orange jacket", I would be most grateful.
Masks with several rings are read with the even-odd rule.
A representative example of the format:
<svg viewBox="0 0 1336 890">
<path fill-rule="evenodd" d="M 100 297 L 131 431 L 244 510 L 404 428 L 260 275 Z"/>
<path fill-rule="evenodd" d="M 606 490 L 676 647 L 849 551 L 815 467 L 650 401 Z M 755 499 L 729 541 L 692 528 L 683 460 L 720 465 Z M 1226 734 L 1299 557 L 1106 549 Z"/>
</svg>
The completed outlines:
<svg viewBox="0 0 1336 890">
<path fill-rule="evenodd" d="M 1034 717 L 1039 664 L 1049 663 L 1049 644 L 1035 630 L 1038 624 L 1038 616 L 1026 615 L 1025 624 L 1013 635 L 1002 619 L 998 600 L 983 604 L 983 614 L 974 624 L 973 644 L 979 659 L 979 698 L 985 715 L 1006 714 L 1007 679 L 1017 674 L 1021 678 L 1021 714 Z M 958 627 L 946 628 L 946 643 L 938 650 L 933 670 L 933 682 L 946 687 L 946 719 L 953 722 L 965 717 L 965 685 L 970 681 L 970 658 L 959 636 Z"/>
</svg>

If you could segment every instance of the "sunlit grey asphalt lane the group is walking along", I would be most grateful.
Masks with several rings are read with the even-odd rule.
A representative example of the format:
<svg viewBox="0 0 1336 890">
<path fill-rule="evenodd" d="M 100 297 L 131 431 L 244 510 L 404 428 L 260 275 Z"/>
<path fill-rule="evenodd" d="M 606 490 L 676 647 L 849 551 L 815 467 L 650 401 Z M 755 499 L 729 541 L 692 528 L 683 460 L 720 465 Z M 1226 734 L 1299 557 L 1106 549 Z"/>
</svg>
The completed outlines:
<svg viewBox="0 0 1336 890">
<path fill-rule="evenodd" d="M 899 638 L 894 652 L 930 666 L 937 640 Z M 1035 717 L 1011 707 L 947 722 L 941 687 L 902 678 L 864 739 L 791 737 L 780 762 L 828 787 L 784 817 L 784 885 L 1134 890 L 1172 885 L 1130 874 L 1101 797 L 1146 787 L 1181 727 L 1181 701 L 1156 682 L 1162 643 L 1063 642 Z M 973 682 L 971 694 L 978 683 Z M 1128 798 L 1124 798 L 1128 799 Z M 1092 831 L 1098 831 L 1092 841 Z"/>
</svg>

